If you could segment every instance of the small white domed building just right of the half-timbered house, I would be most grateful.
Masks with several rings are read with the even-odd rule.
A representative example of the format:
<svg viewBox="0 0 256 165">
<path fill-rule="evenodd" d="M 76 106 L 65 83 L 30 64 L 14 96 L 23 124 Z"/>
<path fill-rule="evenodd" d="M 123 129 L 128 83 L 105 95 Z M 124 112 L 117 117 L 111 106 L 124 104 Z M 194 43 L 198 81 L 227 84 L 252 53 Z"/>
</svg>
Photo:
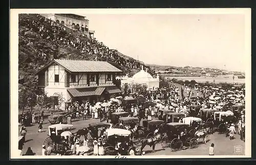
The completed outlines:
<svg viewBox="0 0 256 165">
<path fill-rule="evenodd" d="M 133 77 L 123 76 L 121 77 L 121 86 L 124 84 L 129 83 L 141 83 L 146 84 L 147 89 L 155 89 L 159 88 L 159 75 L 157 74 L 156 78 L 153 78 L 149 73 L 147 73 L 147 70 L 140 70 L 140 72 L 136 73 Z"/>
</svg>

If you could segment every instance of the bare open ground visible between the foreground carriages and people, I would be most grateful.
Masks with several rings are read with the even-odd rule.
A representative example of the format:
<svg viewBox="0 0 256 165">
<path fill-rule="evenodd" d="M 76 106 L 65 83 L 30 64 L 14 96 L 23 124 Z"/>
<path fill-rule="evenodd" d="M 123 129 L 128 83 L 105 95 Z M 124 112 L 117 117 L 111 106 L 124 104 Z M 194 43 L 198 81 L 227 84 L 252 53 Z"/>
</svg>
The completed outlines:
<svg viewBox="0 0 256 165">
<path fill-rule="evenodd" d="M 47 121 L 45 121 L 47 122 Z M 78 129 L 83 127 L 88 127 L 89 123 L 99 122 L 99 119 L 88 119 L 88 120 L 77 120 L 73 121 L 72 125 L 74 125 L 74 129 L 71 132 L 76 132 Z M 41 146 L 44 143 L 44 140 L 48 137 L 48 126 L 50 124 L 47 122 L 43 125 L 43 132 L 38 133 L 38 125 L 27 127 L 28 132 L 26 135 L 26 143 L 24 144 L 23 153 L 25 154 L 28 147 L 31 147 L 32 151 L 37 155 L 41 155 Z M 178 152 L 172 152 L 169 148 L 162 149 L 161 144 L 156 145 L 156 152 L 152 152 L 152 148 L 146 146 L 143 151 L 145 151 L 146 155 L 208 155 L 208 149 L 211 143 L 215 144 L 215 155 L 241 155 L 234 153 L 234 146 L 242 146 L 244 154 L 244 142 L 240 140 L 239 135 L 236 134 L 236 139 L 230 140 L 228 137 L 225 137 L 224 134 L 214 133 L 207 137 L 207 144 L 200 144 L 202 139 L 199 140 L 199 147 L 195 149 L 184 149 Z"/>
</svg>

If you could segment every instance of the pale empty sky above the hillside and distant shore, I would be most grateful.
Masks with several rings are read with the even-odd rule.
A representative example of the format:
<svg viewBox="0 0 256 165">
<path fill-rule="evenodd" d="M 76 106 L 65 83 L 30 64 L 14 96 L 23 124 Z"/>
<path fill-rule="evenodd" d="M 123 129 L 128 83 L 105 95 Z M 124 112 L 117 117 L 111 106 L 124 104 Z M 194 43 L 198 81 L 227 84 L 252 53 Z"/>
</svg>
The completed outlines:
<svg viewBox="0 0 256 165">
<path fill-rule="evenodd" d="M 245 70 L 243 14 L 83 14 L 110 49 L 147 64 Z"/>
</svg>

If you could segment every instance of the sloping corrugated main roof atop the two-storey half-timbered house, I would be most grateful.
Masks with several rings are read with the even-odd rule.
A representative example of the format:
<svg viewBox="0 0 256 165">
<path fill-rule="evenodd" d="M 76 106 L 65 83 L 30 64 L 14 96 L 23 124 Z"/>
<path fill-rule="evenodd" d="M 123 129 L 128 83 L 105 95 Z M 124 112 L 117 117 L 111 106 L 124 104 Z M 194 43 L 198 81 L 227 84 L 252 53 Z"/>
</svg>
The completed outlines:
<svg viewBox="0 0 256 165">
<path fill-rule="evenodd" d="M 54 59 L 56 63 L 70 72 L 122 72 L 122 70 L 105 61 Z"/>
</svg>

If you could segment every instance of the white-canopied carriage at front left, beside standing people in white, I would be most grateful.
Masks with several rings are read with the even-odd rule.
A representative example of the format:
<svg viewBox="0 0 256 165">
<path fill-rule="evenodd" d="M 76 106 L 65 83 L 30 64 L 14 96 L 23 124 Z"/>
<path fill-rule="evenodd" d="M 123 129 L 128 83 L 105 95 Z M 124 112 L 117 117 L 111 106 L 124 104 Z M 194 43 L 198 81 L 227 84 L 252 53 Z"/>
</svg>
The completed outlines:
<svg viewBox="0 0 256 165">
<path fill-rule="evenodd" d="M 67 143 L 62 143 L 62 140 L 65 140 L 67 139 L 67 136 L 72 135 L 72 133 L 69 131 L 72 128 L 73 125 L 69 124 L 55 124 L 49 126 L 49 137 L 47 137 L 44 141 L 44 146 L 46 149 L 51 147 L 52 152 L 61 152 L 62 154 L 65 154 L 70 145 Z M 67 142 L 67 140 L 65 141 Z"/>
</svg>

